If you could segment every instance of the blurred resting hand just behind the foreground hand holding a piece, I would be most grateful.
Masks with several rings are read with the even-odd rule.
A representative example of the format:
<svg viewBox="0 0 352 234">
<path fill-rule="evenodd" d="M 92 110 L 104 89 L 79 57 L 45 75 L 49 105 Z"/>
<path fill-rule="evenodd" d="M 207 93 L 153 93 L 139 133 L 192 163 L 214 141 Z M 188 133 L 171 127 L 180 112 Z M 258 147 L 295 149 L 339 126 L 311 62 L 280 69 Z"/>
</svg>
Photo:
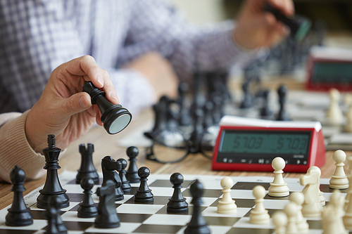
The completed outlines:
<svg viewBox="0 0 352 234">
<path fill-rule="evenodd" d="M 156 94 L 154 97 L 155 100 L 153 100 L 154 103 L 164 95 L 170 98 L 177 97 L 177 87 L 179 83 L 177 75 L 170 62 L 163 58 L 160 53 L 145 53 L 125 67 L 137 70 L 144 74 L 144 77 L 149 79 Z"/>
</svg>

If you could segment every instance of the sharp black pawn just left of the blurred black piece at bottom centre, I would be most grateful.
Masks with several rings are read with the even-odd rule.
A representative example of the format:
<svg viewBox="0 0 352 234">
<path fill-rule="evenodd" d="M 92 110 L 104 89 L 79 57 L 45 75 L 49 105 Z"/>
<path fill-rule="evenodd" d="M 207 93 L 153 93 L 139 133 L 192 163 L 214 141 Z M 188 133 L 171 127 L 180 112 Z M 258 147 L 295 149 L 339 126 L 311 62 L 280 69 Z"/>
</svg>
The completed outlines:
<svg viewBox="0 0 352 234">
<path fill-rule="evenodd" d="M 174 188 L 172 197 L 169 198 L 167 212 L 170 213 L 187 213 L 188 204 L 186 199 L 182 196 L 181 188 L 183 183 L 183 176 L 180 173 L 174 173 L 170 176 L 170 182 Z"/>
</svg>

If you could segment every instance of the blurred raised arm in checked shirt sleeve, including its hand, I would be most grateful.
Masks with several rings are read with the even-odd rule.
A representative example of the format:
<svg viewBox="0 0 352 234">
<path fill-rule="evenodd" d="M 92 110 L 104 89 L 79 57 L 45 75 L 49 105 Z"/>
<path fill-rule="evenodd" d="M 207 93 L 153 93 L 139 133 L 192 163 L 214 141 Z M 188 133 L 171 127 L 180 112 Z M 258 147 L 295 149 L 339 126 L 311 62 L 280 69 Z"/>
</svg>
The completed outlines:
<svg viewBox="0 0 352 234">
<path fill-rule="evenodd" d="M 284 13 L 291 13 L 291 0 L 249 0 L 241 11 L 238 27 L 232 21 L 197 27 L 168 1 L 133 1 L 130 30 L 119 55 L 120 63 L 129 63 L 146 51 L 158 51 L 171 60 L 183 80 L 189 80 L 194 71 L 223 71 L 234 64 L 246 64 L 258 56 L 259 50 L 253 48 L 275 44 L 287 34 L 275 18 L 272 20 L 261 11 L 266 1 L 284 9 Z"/>
</svg>

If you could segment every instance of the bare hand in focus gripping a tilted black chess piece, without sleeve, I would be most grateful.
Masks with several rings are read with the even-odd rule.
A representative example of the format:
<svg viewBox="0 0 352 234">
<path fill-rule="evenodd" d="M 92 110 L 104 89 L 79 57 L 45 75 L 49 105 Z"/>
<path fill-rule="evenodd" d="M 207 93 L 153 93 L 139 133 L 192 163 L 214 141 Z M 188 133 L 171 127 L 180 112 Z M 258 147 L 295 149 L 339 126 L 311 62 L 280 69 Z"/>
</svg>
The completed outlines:
<svg viewBox="0 0 352 234">
<path fill-rule="evenodd" d="M 56 146 L 64 149 L 92 127 L 101 123 L 101 112 L 92 105 L 88 93 L 82 92 L 84 81 L 106 92 L 106 98 L 118 104 L 118 96 L 108 72 L 91 56 L 63 63 L 50 76 L 42 96 L 27 115 L 25 134 L 36 152 L 47 147 L 47 135 L 54 134 Z"/>
</svg>

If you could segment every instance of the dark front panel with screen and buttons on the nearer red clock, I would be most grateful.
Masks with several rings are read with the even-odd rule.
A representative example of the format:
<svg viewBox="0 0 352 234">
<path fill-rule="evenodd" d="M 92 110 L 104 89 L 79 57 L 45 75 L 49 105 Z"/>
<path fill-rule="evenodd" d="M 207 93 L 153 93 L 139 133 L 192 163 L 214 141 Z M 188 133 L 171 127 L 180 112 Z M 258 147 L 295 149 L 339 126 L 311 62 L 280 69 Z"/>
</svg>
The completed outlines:
<svg viewBox="0 0 352 234">
<path fill-rule="evenodd" d="M 283 157 L 287 163 L 307 163 L 310 131 L 225 130 L 220 139 L 218 162 L 271 163 Z"/>
</svg>

